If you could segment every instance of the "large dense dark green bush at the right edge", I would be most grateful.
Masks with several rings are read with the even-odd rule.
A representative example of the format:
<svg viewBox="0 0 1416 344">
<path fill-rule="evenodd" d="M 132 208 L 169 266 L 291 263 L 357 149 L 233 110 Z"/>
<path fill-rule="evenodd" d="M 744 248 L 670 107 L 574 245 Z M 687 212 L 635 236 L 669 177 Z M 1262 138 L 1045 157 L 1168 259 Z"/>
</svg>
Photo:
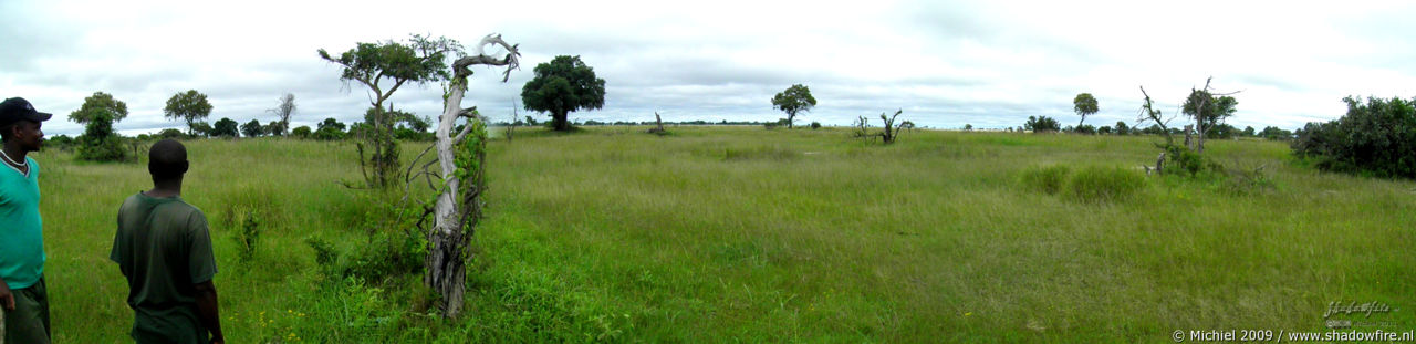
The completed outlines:
<svg viewBox="0 0 1416 344">
<path fill-rule="evenodd" d="M 1307 123 L 1293 153 L 1318 168 L 1383 178 L 1416 178 L 1416 99 L 1342 98 L 1347 115 Z M 1264 130 L 1267 132 L 1267 130 Z"/>
</svg>

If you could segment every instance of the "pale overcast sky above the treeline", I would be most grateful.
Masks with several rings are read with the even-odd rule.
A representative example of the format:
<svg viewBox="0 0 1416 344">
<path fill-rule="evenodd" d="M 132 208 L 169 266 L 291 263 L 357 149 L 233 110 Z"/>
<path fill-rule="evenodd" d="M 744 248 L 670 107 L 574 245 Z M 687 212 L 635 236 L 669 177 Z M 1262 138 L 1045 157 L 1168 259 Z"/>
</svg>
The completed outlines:
<svg viewBox="0 0 1416 344">
<path fill-rule="evenodd" d="M 605 79 L 605 106 L 572 120 L 759 120 L 784 117 L 775 93 L 793 84 L 817 106 L 797 123 L 851 125 L 902 109 L 919 126 L 1001 129 L 1028 116 L 1082 120 L 1072 99 L 1096 96 L 1089 125 L 1133 125 L 1140 86 L 1167 113 L 1212 78 L 1238 92 L 1236 127 L 1301 127 L 1344 115 L 1342 98 L 1416 96 L 1412 1 L 96 1 L 0 0 L 0 98 L 55 117 L 50 136 L 79 134 L 68 115 L 102 91 L 127 103 L 125 134 L 184 129 L 166 101 L 197 89 L 208 122 L 273 120 L 293 93 L 292 127 L 358 122 L 365 86 L 340 81 L 316 50 L 443 35 L 473 44 L 497 33 L 520 44 L 521 69 L 476 68 L 463 108 L 491 120 L 521 109 L 537 64 L 579 55 Z M 470 47 L 469 47 L 470 50 Z M 500 50 L 489 50 L 489 54 Z M 442 85 L 408 85 L 395 109 L 436 117 Z M 1171 122 L 1182 123 L 1184 119 Z"/>
</svg>

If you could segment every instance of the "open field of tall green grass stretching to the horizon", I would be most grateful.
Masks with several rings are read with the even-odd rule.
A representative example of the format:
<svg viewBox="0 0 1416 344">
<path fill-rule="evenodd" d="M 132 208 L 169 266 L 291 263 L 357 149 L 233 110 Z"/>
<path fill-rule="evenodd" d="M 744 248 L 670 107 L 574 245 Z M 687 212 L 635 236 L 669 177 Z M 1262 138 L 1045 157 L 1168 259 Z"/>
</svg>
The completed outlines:
<svg viewBox="0 0 1416 344">
<path fill-rule="evenodd" d="M 1133 194 L 1041 193 L 1027 170 L 1144 176 L 1157 137 L 845 129 L 520 130 L 490 144 L 466 314 L 421 275 L 341 279 L 307 238 L 371 245 L 389 217 L 348 190 L 350 143 L 187 142 L 183 197 L 207 212 L 231 343 L 1171 343 L 1174 330 L 1327 330 L 1330 302 L 1416 328 L 1416 183 L 1318 173 L 1284 143 L 1212 140 L 1270 188 L 1140 177 Z M 404 143 L 412 159 L 425 144 Z M 144 164 L 41 151 L 58 343 L 126 341 L 108 262 Z M 1092 168 L 1096 170 L 1096 168 Z M 1130 176 L 1120 176 L 1130 177 Z M 238 212 L 259 214 L 238 259 Z M 382 236 L 379 236 L 382 238 Z M 346 255 L 343 260 L 358 259 Z"/>
</svg>

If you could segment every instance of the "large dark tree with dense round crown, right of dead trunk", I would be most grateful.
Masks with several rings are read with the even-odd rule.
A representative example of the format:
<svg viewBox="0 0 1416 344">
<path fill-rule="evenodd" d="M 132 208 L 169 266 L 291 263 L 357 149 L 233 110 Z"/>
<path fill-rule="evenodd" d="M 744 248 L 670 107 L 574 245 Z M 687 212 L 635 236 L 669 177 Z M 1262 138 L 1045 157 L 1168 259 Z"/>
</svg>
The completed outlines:
<svg viewBox="0 0 1416 344">
<path fill-rule="evenodd" d="M 596 78 L 595 68 L 579 55 L 555 57 L 534 71 L 535 76 L 521 86 L 521 103 L 527 110 L 548 112 L 552 129 L 571 130 L 571 112 L 605 106 L 605 79 Z"/>
</svg>

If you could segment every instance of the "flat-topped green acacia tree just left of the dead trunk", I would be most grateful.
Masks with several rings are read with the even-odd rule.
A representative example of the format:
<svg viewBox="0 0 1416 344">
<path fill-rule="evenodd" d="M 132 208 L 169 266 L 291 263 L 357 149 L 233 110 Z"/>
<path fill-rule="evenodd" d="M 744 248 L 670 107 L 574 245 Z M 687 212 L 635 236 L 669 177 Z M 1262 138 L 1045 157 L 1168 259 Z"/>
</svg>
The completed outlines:
<svg viewBox="0 0 1416 344">
<path fill-rule="evenodd" d="M 343 67 L 340 79 L 355 81 L 372 91 L 370 105 L 372 106 L 372 130 L 364 136 L 370 143 L 372 154 L 364 160 L 362 143 L 358 143 L 360 168 L 368 167 L 372 176 L 364 171 L 365 181 L 371 187 L 387 187 L 398 174 L 398 143 L 394 142 L 394 119 L 389 109 L 384 108 L 384 101 L 394 96 L 394 92 L 404 84 L 428 84 L 445 81 L 450 76 L 447 71 L 447 57 L 462 55 L 462 45 L 446 37 L 430 38 L 413 34 L 409 42 L 382 41 L 360 42 L 354 48 L 344 51 L 338 58 L 331 57 L 323 48 L 320 58 Z M 388 85 L 385 82 L 392 82 Z M 385 91 L 384 86 L 388 86 Z"/>
</svg>

